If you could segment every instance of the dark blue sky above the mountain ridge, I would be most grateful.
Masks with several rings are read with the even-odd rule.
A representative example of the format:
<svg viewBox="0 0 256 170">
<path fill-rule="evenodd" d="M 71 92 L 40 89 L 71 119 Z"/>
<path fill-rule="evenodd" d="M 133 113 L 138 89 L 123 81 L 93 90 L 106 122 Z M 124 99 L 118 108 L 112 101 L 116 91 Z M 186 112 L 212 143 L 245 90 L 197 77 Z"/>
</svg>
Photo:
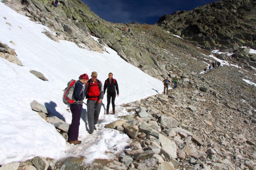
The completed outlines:
<svg viewBox="0 0 256 170">
<path fill-rule="evenodd" d="M 216 0 L 82 0 L 100 18 L 115 23 L 155 24 L 166 14 L 191 10 Z"/>
</svg>

